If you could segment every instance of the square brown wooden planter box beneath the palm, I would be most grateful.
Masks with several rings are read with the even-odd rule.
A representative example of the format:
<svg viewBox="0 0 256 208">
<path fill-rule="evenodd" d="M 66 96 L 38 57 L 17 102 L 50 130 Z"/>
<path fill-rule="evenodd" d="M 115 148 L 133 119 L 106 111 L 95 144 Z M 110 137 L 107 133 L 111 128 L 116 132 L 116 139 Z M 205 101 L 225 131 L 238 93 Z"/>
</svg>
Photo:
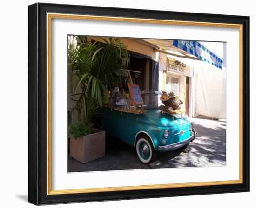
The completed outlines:
<svg viewBox="0 0 256 208">
<path fill-rule="evenodd" d="M 105 156 L 105 131 L 92 129 L 92 134 L 78 139 L 70 136 L 70 156 L 81 163 Z"/>
</svg>

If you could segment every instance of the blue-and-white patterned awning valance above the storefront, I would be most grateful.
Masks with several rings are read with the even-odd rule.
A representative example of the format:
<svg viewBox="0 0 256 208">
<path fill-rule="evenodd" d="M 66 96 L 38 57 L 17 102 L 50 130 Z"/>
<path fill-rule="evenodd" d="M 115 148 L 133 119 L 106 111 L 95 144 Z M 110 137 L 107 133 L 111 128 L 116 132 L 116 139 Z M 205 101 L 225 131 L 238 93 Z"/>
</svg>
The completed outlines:
<svg viewBox="0 0 256 208">
<path fill-rule="evenodd" d="M 173 45 L 183 51 L 189 52 L 195 57 L 208 62 L 211 65 L 222 69 L 223 59 L 219 58 L 215 53 L 209 51 L 203 45 L 193 40 L 173 40 Z"/>
</svg>

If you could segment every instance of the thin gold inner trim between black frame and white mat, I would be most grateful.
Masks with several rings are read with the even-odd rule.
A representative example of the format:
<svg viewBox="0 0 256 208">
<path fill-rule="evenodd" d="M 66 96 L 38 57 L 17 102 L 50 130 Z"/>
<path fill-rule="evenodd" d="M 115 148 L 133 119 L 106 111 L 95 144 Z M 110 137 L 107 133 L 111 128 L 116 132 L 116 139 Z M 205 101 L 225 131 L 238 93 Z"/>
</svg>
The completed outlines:
<svg viewBox="0 0 256 208">
<path fill-rule="evenodd" d="M 183 25 L 183 26 L 211 26 L 211 27 L 228 27 L 239 28 L 239 180 L 229 181 L 213 181 L 213 182 L 188 182 L 188 183 L 172 183 L 172 184 L 156 184 L 141 186 L 122 186 L 122 187 L 106 187 L 106 188 L 88 188 L 88 189 L 65 189 L 52 190 L 52 170 L 51 170 L 51 23 L 53 18 L 61 19 L 77 19 L 77 20 L 100 20 L 100 21 L 121 21 L 121 22 L 138 22 L 150 24 L 167 24 L 167 25 Z M 143 189 L 163 189 L 178 188 L 192 186 L 211 186 L 243 183 L 243 25 L 225 24 L 214 22 L 195 22 L 180 20 L 157 20 L 157 19 L 141 19 L 141 18 L 123 18 L 123 17 L 107 17 L 107 16 L 91 16 L 91 15 L 75 15 L 63 13 L 47 13 L 47 195 L 60 194 L 78 194 L 93 193 L 107 191 L 124 191 L 124 190 L 143 190 Z"/>
</svg>

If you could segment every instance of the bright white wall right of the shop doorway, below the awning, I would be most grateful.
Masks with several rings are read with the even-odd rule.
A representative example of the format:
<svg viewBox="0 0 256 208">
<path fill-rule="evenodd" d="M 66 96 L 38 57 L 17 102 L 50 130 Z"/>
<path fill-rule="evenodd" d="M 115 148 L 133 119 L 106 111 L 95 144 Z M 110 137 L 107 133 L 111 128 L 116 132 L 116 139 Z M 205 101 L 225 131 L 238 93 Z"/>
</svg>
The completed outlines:
<svg viewBox="0 0 256 208">
<path fill-rule="evenodd" d="M 227 69 L 200 62 L 194 67 L 195 114 L 226 118 Z"/>
</svg>

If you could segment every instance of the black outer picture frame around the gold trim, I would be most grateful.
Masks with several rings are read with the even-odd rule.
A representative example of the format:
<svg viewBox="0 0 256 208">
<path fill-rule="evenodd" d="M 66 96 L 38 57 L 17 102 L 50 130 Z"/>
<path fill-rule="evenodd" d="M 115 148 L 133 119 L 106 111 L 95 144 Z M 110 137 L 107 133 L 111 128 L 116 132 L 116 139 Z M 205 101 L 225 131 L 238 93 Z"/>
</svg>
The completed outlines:
<svg viewBox="0 0 256 208">
<path fill-rule="evenodd" d="M 47 13 L 239 24 L 243 26 L 242 183 L 49 195 L 47 188 Z M 249 17 L 36 3 L 28 6 L 28 202 L 35 205 L 249 191 Z"/>
</svg>

